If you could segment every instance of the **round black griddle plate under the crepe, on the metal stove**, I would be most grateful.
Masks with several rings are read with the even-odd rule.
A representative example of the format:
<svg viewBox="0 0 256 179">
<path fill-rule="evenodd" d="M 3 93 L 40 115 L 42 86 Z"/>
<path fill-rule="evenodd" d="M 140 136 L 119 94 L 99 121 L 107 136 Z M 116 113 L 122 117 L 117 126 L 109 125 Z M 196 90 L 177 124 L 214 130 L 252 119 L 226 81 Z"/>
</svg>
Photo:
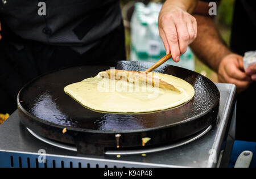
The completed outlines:
<svg viewBox="0 0 256 179">
<path fill-rule="evenodd" d="M 115 67 L 144 71 L 152 63 L 118 61 L 72 67 L 49 73 L 28 83 L 18 95 L 20 121 L 35 133 L 58 142 L 75 144 L 80 154 L 103 155 L 117 148 L 159 146 L 187 138 L 216 122 L 220 93 L 209 79 L 180 67 L 155 70 L 192 84 L 195 96 L 177 108 L 142 114 L 101 113 L 84 108 L 65 94 L 64 87 Z M 63 129 L 67 132 L 63 134 Z M 117 135 L 120 134 L 120 135 Z"/>
</svg>

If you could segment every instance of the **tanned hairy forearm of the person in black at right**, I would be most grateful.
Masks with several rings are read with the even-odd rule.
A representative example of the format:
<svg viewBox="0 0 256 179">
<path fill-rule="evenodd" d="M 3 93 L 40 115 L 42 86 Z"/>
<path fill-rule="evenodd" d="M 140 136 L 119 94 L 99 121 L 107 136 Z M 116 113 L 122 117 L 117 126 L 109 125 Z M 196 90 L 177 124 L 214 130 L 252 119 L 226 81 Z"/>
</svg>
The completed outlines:
<svg viewBox="0 0 256 179">
<path fill-rule="evenodd" d="M 197 39 L 191 44 L 193 52 L 206 65 L 218 71 L 221 59 L 232 53 L 222 41 L 212 18 L 194 15 L 197 20 Z"/>
</svg>

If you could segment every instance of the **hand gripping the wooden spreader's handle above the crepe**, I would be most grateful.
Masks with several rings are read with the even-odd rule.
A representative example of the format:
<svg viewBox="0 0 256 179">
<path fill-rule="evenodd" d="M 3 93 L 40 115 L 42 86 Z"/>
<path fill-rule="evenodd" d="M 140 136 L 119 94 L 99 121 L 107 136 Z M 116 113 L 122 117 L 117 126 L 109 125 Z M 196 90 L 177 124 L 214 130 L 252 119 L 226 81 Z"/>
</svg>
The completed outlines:
<svg viewBox="0 0 256 179">
<path fill-rule="evenodd" d="M 167 1 L 168 2 L 168 1 Z M 187 51 L 197 36 L 196 19 L 185 7 L 164 3 L 159 14 L 159 34 L 163 40 L 166 53 L 172 54 L 175 62 Z"/>
</svg>

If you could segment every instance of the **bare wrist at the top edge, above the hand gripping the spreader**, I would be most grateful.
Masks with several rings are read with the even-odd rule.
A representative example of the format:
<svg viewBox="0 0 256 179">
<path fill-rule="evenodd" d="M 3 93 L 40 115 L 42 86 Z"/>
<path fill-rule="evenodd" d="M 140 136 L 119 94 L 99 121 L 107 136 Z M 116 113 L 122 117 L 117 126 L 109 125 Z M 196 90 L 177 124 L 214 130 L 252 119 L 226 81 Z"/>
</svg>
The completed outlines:
<svg viewBox="0 0 256 179">
<path fill-rule="evenodd" d="M 167 0 L 164 6 L 178 6 L 183 10 L 192 13 L 198 0 Z"/>
</svg>

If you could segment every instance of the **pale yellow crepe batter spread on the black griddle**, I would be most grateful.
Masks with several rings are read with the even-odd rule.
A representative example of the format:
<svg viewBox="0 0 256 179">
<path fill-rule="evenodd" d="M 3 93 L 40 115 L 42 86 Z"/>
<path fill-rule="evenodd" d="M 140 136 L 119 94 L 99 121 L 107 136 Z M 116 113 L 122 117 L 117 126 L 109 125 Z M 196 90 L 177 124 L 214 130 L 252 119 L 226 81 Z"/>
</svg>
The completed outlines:
<svg viewBox="0 0 256 179">
<path fill-rule="evenodd" d="M 64 91 L 86 108 L 109 113 L 146 113 L 170 109 L 186 103 L 195 95 L 191 84 L 180 78 L 167 74 L 150 75 L 157 75 L 181 93 L 151 86 L 135 86 L 99 75 L 70 84 Z"/>
</svg>

